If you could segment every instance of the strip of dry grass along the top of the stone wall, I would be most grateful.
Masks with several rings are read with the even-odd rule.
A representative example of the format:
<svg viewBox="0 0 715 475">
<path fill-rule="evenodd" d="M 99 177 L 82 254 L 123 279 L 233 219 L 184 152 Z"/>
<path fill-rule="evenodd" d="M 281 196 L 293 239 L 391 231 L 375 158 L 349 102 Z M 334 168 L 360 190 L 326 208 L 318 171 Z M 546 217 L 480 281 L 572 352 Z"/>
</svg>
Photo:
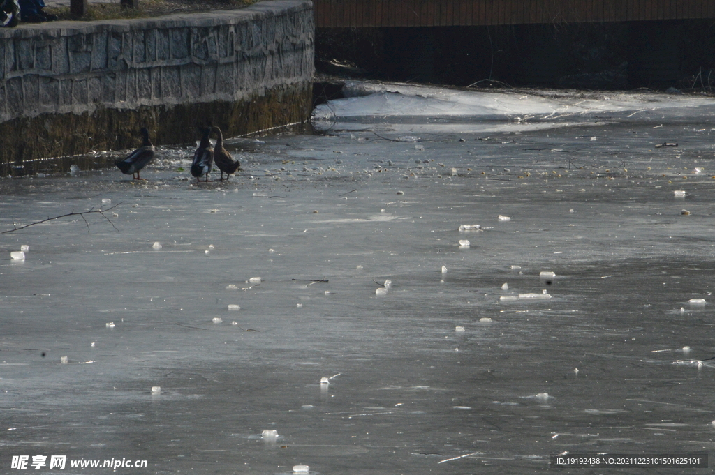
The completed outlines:
<svg viewBox="0 0 715 475">
<path fill-rule="evenodd" d="M 60 20 L 112 20 L 149 18 L 175 13 L 195 13 L 199 11 L 230 10 L 255 4 L 257 0 L 139 0 L 138 9 L 122 8 L 117 4 L 89 4 L 87 14 L 74 18 L 68 7 L 46 8 L 45 11 L 59 16 Z"/>
</svg>

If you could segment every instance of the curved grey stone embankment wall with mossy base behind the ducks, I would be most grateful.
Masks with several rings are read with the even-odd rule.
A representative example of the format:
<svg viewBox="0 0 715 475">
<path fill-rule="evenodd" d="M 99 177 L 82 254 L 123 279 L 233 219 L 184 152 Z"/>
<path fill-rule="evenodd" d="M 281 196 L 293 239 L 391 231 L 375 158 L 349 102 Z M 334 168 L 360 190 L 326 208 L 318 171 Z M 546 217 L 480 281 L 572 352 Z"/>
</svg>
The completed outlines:
<svg viewBox="0 0 715 475">
<path fill-rule="evenodd" d="M 305 121 L 313 31 L 308 0 L 0 29 L 0 163 Z"/>
</svg>

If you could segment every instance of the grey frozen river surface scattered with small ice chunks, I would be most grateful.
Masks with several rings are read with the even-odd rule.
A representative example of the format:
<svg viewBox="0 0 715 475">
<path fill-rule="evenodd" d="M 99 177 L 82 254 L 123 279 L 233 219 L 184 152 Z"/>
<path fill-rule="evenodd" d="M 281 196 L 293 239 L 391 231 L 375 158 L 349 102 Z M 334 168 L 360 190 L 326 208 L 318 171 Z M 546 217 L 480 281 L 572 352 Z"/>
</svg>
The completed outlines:
<svg viewBox="0 0 715 475">
<path fill-rule="evenodd" d="M 228 182 L 191 148 L 0 180 L 1 231 L 117 205 L 0 236 L 1 473 L 714 451 L 715 104 L 360 88 L 323 135 L 232 141 Z M 147 467 L 70 466 L 111 459 Z"/>
</svg>

